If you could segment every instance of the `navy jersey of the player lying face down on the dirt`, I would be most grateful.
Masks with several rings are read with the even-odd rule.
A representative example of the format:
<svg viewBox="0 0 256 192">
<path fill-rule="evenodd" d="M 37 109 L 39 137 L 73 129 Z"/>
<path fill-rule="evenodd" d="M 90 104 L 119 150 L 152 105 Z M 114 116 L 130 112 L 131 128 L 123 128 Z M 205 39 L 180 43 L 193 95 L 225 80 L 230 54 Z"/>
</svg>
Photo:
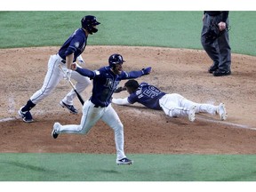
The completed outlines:
<svg viewBox="0 0 256 192">
<path fill-rule="evenodd" d="M 153 85 L 141 83 L 136 92 L 132 92 L 132 94 L 129 95 L 128 102 L 131 104 L 139 102 L 147 108 L 162 110 L 159 105 L 159 100 L 165 94 L 165 92 L 160 91 Z"/>
</svg>

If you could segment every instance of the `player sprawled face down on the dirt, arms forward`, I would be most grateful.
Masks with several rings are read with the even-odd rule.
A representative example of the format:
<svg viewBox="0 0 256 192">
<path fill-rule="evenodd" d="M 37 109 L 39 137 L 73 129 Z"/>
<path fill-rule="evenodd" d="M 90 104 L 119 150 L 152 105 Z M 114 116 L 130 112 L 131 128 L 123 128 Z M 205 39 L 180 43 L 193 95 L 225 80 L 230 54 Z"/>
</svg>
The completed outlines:
<svg viewBox="0 0 256 192">
<path fill-rule="evenodd" d="M 156 86 L 141 83 L 136 80 L 129 80 L 124 84 L 124 87 L 118 87 L 115 92 L 127 90 L 129 97 L 124 99 L 114 99 L 113 103 L 117 105 L 131 105 L 138 102 L 147 108 L 156 110 L 164 110 L 167 116 L 188 116 L 188 120 L 193 122 L 196 119 L 196 113 L 209 113 L 212 115 L 219 114 L 221 120 L 226 120 L 228 115 L 223 103 L 219 106 L 211 104 L 196 103 L 187 100 L 178 93 L 166 94 Z"/>
</svg>

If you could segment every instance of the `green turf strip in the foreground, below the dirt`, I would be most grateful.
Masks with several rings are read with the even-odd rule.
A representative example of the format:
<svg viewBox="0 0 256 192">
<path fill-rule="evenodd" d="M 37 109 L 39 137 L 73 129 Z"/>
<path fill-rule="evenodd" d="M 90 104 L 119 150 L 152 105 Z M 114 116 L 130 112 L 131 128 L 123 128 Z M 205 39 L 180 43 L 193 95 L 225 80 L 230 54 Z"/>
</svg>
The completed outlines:
<svg viewBox="0 0 256 192">
<path fill-rule="evenodd" d="M 254 155 L 0 154 L 2 181 L 255 181 Z"/>
</svg>

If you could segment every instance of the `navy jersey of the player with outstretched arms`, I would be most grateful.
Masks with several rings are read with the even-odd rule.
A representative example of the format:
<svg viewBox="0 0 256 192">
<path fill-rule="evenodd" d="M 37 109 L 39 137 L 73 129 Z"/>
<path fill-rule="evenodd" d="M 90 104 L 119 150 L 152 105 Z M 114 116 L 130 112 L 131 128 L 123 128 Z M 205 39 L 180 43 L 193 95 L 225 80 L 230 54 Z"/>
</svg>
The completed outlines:
<svg viewBox="0 0 256 192">
<path fill-rule="evenodd" d="M 93 79 L 92 97 L 90 100 L 95 106 L 99 107 L 107 107 L 109 105 L 112 94 L 121 80 L 143 76 L 141 70 L 131 71 L 129 73 L 122 71 L 120 75 L 116 75 L 111 71 L 109 66 L 95 71 L 87 68 L 76 68 L 76 71 L 82 76 L 89 76 Z"/>
</svg>

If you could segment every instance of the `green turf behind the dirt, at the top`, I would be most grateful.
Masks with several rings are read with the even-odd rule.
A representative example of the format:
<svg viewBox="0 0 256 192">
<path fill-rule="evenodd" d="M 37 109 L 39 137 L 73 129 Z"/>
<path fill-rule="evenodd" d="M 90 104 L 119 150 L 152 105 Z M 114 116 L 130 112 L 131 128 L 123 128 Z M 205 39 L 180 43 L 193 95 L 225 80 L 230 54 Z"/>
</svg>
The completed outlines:
<svg viewBox="0 0 256 192">
<path fill-rule="evenodd" d="M 203 12 L 0 12 L 0 48 L 60 46 L 86 14 L 100 20 L 88 44 L 202 49 Z M 256 12 L 230 12 L 232 52 L 256 55 Z M 246 20 L 246 22 L 244 21 Z"/>
</svg>

